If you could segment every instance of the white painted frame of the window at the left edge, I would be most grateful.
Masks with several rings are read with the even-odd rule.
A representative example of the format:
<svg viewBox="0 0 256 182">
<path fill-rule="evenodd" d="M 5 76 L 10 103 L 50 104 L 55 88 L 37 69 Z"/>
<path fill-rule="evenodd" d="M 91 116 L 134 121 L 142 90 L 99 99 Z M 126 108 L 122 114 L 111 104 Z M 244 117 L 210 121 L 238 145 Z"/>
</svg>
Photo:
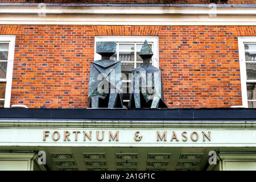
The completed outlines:
<svg viewBox="0 0 256 182">
<path fill-rule="evenodd" d="M 0 82 L 6 82 L 4 107 L 10 107 L 11 84 L 13 81 L 13 60 L 14 60 L 14 50 L 15 50 L 15 35 L 0 35 L 0 42 L 1 43 L 9 43 L 6 78 L 0 78 Z"/>
</svg>

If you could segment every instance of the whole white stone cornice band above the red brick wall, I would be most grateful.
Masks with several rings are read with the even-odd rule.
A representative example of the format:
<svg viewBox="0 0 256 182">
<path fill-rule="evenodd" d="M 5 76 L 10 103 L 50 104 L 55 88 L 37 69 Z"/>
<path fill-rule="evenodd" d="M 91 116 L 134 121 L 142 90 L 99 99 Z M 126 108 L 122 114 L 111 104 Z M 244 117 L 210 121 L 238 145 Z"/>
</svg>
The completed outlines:
<svg viewBox="0 0 256 182">
<path fill-rule="evenodd" d="M 256 7 L 0 6 L 0 24 L 255 26 Z M 39 16 L 38 13 L 46 13 Z M 216 14 L 216 16 L 209 16 Z"/>
</svg>

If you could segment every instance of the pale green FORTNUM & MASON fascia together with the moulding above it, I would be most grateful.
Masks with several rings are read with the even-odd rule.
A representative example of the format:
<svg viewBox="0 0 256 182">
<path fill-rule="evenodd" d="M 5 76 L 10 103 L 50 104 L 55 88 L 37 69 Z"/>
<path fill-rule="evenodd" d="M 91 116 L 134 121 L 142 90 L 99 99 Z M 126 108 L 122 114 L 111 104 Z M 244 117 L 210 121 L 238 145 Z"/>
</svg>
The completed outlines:
<svg viewBox="0 0 256 182">
<path fill-rule="evenodd" d="M 84 119 L 1 119 L 0 146 L 116 146 L 116 147 L 256 147 L 256 123 L 217 122 L 217 121 L 85 121 Z M 53 141 L 53 131 L 59 131 L 60 140 Z M 46 141 L 43 141 L 44 131 L 49 131 Z M 63 132 L 70 131 L 71 140 L 63 141 Z M 74 140 L 73 131 L 81 131 L 79 140 Z M 92 140 L 84 141 L 82 131 L 92 131 Z M 95 139 L 96 131 L 105 131 L 105 139 L 101 142 Z M 108 141 L 108 132 L 119 131 L 119 141 Z M 135 132 L 143 135 L 141 142 L 134 140 Z M 167 131 L 167 141 L 156 141 L 156 131 L 162 134 Z M 172 131 L 179 135 L 179 142 L 170 142 Z M 192 131 L 197 131 L 200 140 L 187 142 L 181 140 L 181 132 L 187 131 L 189 137 Z M 210 131 L 211 140 L 202 140 L 202 131 Z M 239 135 L 238 135 L 239 134 Z M 18 136 L 18 137 L 17 137 Z M 33 136 L 31 138 L 31 136 Z M 241 138 L 241 136 L 243 136 Z"/>
</svg>

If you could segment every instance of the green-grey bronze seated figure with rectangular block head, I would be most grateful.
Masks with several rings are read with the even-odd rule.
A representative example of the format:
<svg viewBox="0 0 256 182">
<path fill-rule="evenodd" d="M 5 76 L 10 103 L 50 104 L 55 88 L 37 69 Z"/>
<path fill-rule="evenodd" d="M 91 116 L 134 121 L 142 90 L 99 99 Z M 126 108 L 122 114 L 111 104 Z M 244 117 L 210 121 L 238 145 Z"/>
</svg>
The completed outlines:
<svg viewBox="0 0 256 182">
<path fill-rule="evenodd" d="M 110 60 L 115 50 L 115 42 L 96 42 L 96 52 L 102 57 L 90 63 L 88 107 L 124 107 L 121 63 Z"/>
</svg>

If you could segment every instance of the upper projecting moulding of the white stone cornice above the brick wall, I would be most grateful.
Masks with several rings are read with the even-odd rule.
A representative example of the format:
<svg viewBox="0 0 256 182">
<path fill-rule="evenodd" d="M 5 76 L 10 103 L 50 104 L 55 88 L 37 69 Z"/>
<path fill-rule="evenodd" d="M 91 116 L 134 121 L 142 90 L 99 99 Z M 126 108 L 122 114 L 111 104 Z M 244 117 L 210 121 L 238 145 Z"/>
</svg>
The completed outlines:
<svg viewBox="0 0 256 182">
<path fill-rule="evenodd" d="M 38 14 L 43 6 L 1 6 L 1 14 Z M 142 7 L 142 6 L 46 6 L 46 14 L 127 15 L 256 15 L 256 7 Z"/>
</svg>

